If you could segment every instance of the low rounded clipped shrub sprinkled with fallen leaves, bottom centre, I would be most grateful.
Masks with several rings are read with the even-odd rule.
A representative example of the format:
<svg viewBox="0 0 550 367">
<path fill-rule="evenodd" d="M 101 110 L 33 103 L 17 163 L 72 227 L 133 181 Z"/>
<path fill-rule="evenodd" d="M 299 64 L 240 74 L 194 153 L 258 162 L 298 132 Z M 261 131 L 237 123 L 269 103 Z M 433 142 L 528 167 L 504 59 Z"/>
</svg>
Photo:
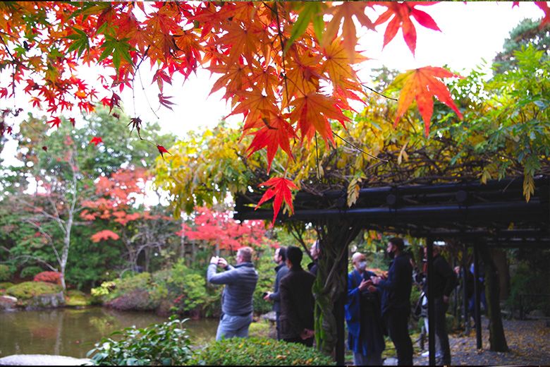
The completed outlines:
<svg viewBox="0 0 550 367">
<path fill-rule="evenodd" d="M 197 351 L 193 364 L 202 366 L 328 366 L 329 356 L 302 344 L 258 337 L 212 342 Z"/>
</svg>

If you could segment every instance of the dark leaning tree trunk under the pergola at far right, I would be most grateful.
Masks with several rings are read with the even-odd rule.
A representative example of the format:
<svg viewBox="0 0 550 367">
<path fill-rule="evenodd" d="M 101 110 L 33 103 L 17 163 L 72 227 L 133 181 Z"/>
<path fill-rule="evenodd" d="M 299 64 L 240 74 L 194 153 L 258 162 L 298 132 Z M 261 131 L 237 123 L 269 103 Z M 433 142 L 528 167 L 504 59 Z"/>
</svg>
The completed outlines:
<svg viewBox="0 0 550 367">
<path fill-rule="evenodd" d="M 491 351 L 508 351 L 502 326 L 499 272 L 487 245 L 484 243 L 479 243 L 479 245 L 479 255 L 481 255 L 485 268 L 485 298 L 487 299 L 487 317 L 489 318 L 490 349 Z"/>
</svg>

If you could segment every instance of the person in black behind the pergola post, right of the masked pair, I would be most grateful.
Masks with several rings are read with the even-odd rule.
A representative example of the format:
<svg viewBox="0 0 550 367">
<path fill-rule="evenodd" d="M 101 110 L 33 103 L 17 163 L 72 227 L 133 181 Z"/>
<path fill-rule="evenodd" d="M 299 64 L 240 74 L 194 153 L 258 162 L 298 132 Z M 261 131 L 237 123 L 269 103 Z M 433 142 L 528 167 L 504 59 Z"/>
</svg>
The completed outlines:
<svg viewBox="0 0 550 367">
<path fill-rule="evenodd" d="M 451 364 L 451 349 L 448 345 L 445 313 L 448 308 L 448 299 L 456 287 L 456 275 L 448 265 L 447 260 L 439 253 L 439 246 L 433 246 L 434 275 L 432 275 L 432 292 L 434 294 L 434 330 L 436 343 L 439 349 L 436 351 L 436 365 Z M 424 256 L 427 257 L 427 248 L 424 248 Z M 426 292 L 427 289 L 424 289 Z M 429 295 L 428 295 L 429 296 Z M 428 320 L 432 322 L 432 320 Z"/>
</svg>

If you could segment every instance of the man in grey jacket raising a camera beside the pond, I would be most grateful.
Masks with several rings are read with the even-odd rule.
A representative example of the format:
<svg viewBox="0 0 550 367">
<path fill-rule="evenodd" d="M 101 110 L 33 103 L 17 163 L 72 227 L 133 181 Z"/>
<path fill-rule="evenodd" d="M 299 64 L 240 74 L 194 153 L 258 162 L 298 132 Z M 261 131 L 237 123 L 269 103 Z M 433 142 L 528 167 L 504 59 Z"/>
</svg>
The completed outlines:
<svg viewBox="0 0 550 367">
<path fill-rule="evenodd" d="M 248 327 L 252 323 L 252 294 L 258 281 L 258 273 L 252 265 L 252 253 L 250 247 L 239 248 L 234 267 L 228 265 L 224 258 L 213 256 L 210 259 L 208 282 L 226 284 L 221 294 L 221 318 L 216 340 L 222 337 L 248 337 Z M 226 271 L 216 273 L 218 266 Z"/>
</svg>

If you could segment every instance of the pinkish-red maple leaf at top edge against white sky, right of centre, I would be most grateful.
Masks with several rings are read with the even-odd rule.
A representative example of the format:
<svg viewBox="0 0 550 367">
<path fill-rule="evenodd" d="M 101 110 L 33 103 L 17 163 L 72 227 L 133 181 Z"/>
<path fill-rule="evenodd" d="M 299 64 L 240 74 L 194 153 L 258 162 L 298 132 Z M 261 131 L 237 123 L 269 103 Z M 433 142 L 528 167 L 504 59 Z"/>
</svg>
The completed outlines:
<svg viewBox="0 0 550 367">
<path fill-rule="evenodd" d="M 377 21 L 374 22 L 374 25 L 386 23 L 386 21 L 393 16 L 386 27 L 386 32 L 384 32 L 383 47 L 386 47 L 386 44 L 393 40 L 393 37 L 396 37 L 397 31 L 401 28 L 403 30 L 403 38 L 405 39 L 405 43 L 409 47 L 410 52 L 414 55 L 416 49 L 416 28 L 415 25 L 412 24 L 410 16 L 413 16 L 415 20 L 420 23 L 420 25 L 432 30 L 439 30 L 441 32 L 435 23 L 435 20 L 429 16 L 428 13 L 415 9 L 415 6 L 417 5 L 432 5 L 437 2 L 438 1 L 405 1 L 403 3 L 398 3 L 393 1 L 385 1 L 377 3 L 376 5 L 386 6 L 388 10 L 379 16 Z"/>
</svg>

